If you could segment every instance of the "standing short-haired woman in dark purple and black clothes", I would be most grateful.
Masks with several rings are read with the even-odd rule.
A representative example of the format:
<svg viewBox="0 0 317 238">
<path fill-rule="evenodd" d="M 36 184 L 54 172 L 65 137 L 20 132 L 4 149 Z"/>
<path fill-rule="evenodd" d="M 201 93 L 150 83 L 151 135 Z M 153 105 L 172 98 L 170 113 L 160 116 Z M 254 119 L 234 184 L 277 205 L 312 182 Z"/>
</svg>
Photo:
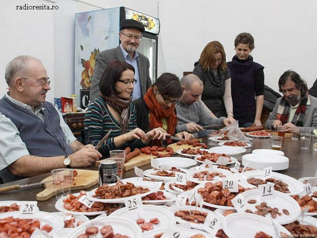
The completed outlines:
<svg viewBox="0 0 317 238">
<path fill-rule="evenodd" d="M 234 40 L 236 55 L 228 62 L 231 72 L 233 114 L 239 126 L 261 126 L 264 103 L 264 66 L 253 61 L 254 38 L 240 33 Z"/>
</svg>

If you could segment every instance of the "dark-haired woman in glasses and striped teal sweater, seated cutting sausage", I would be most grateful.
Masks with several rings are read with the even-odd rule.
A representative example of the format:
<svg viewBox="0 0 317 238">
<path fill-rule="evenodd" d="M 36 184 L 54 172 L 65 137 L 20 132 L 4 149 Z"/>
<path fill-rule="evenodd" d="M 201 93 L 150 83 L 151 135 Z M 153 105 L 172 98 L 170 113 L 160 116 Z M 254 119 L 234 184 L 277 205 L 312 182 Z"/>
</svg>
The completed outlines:
<svg viewBox="0 0 317 238">
<path fill-rule="evenodd" d="M 85 142 L 97 145 L 112 129 L 99 149 L 103 157 L 110 150 L 144 147 L 152 139 L 165 139 L 161 128 L 145 133 L 137 128 L 136 111 L 132 101 L 134 67 L 126 62 L 111 61 L 100 80 L 101 94 L 94 99 L 85 114 Z"/>
</svg>

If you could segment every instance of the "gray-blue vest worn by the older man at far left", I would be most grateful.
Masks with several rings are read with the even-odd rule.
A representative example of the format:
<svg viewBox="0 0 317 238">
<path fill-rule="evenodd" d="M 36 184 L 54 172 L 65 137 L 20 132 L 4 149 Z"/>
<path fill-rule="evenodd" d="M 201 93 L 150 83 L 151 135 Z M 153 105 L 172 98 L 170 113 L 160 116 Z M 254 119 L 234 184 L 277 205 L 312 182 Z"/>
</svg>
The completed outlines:
<svg viewBox="0 0 317 238">
<path fill-rule="evenodd" d="M 44 122 L 6 97 L 0 100 L 0 112 L 15 124 L 30 155 L 53 157 L 72 154 L 70 145 L 65 143 L 65 135 L 59 125 L 59 115 L 54 106 L 45 102 L 42 110 Z M 16 176 L 13 176 L 14 179 L 7 178 L 12 176 L 7 168 L 0 171 L 0 176 L 3 182 L 23 179 Z"/>
</svg>

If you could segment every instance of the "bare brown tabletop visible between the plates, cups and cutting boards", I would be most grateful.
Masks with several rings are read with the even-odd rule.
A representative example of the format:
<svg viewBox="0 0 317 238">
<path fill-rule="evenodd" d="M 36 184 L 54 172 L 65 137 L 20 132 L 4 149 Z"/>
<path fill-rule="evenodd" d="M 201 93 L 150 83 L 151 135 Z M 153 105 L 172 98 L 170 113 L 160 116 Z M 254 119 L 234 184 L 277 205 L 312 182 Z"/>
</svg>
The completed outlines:
<svg viewBox="0 0 317 238">
<path fill-rule="evenodd" d="M 252 153 L 252 150 L 254 149 L 270 149 L 271 148 L 271 142 L 269 138 L 253 138 L 252 141 L 253 141 L 253 146 L 250 148 L 247 148 L 247 151 L 245 153 L 234 156 L 239 162 L 242 161 L 242 156 L 244 154 Z M 210 147 L 214 147 L 214 146 L 217 146 L 217 144 L 214 143 Z M 287 137 L 284 138 L 284 141 L 282 144 L 282 151 L 285 153 L 285 156 L 289 158 L 289 168 L 284 171 L 279 171 L 280 173 L 291 176 L 295 179 L 299 179 L 302 177 L 315 176 L 315 172 L 317 169 L 317 151 L 313 151 L 312 148 L 310 148 L 309 150 L 301 149 L 300 140 L 291 140 L 291 138 L 287 138 Z M 142 170 L 147 170 L 150 168 L 151 168 L 150 165 L 140 167 L 140 169 Z M 80 169 L 83 169 L 83 168 L 80 168 Z M 97 170 L 98 168 L 88 167 L 86 169 Z M 28 183 L 39 182 L 47 178 L 48 176 L 50 176 L 50 174 L 34 176 L 28 179 L 21 179 L 18 181 L 1 184 L 0 187 L 14 185 L 14 184 L 24 185 Z M 124 172 L 123 178 L 130 178 L 130 177 L 135 177 L 133 170 Z M 96 187 L 98 187 L 98 184 L 91 187 L 89 190 L 94 189 Z M 21 190 L 14 190 L 14 191 L 9 191 L 5 193 L 0 193 L 0 201 L 36 200 L 36 194 L 41 192 L 42 190 L 43 190 L 43 187 L 34 186 L 34 187 L 29 187 L 29 188 L 25 188 Z M 73 192 L 78 192 L 78 191 L 73 191 Z M 55 212 L 57 211 L 54 207 L 55 202 L 56 202 L 55 197 L 52 197 L 47 201 L 39 201 L 38 207 L 40 208 L 41 211 Z"/>
</svg>

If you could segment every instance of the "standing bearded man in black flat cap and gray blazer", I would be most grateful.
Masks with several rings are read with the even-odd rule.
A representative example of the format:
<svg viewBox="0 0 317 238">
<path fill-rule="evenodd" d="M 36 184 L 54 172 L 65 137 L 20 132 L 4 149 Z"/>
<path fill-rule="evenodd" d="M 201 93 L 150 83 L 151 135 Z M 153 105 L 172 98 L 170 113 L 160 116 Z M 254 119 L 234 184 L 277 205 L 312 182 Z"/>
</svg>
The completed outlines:
<svg viewBox="0 0 317 238">
<path fill-rule="evenodd" d="M 132 100 L 143 97 L 148 88 L 151 87 L 150 61 L 147 57 L 136 51 L 140 45 L 143 32 L 144 26 L 140 22 L 133 19 L 121 21 L 119 32 L 121 44 L 116 48 L 102 51 L 96 57 L 92 86 L 90 89 L 90 101 L 99 96 L 100 79 L 106 66 L 112 60 L 126 61 L 134 67 L 134 76 L 137 82 L 134 85 Z"/>
</svg>

